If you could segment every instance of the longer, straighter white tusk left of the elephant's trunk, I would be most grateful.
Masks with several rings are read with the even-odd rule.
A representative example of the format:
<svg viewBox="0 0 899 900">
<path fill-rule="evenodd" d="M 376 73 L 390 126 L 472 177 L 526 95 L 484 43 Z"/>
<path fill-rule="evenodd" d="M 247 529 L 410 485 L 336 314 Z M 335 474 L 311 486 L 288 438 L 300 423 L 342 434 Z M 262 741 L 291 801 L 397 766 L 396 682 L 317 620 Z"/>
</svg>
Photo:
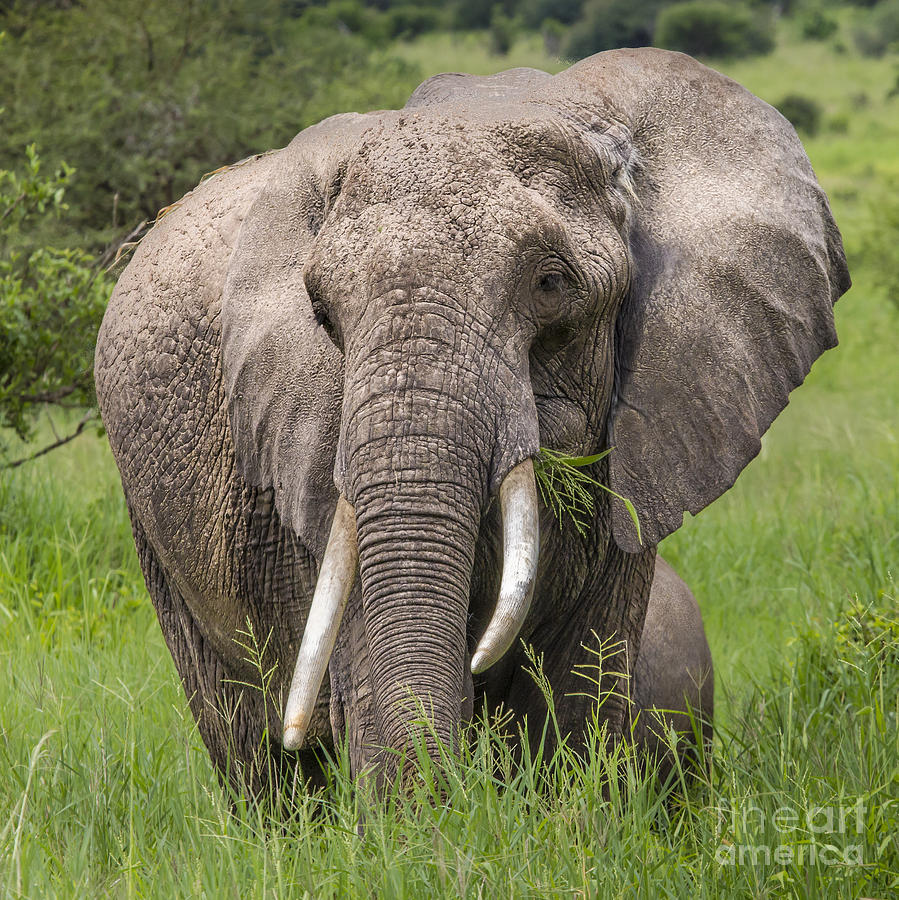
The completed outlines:
<svg viewBox="0 0 899 900">
<path fill-rule="evenodd" d="M 340 620 L 356 580 L 358 563 L 356 513 L 349 502 L 341 497 L 337 501 L 337 510 L 331 523 L 328 546 L 315 583 L 312 606 L 284 709 L 282 743 L 286 750 L 299 750 L 303 746 L 315 701 L 337 640 Z"/>
</svg>

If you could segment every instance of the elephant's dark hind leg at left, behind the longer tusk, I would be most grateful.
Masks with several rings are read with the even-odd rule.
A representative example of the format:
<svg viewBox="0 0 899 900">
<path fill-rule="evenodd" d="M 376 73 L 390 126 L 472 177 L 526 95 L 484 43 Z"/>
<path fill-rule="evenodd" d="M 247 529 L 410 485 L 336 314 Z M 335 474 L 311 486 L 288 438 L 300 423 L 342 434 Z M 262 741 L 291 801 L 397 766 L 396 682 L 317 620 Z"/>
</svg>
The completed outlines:
<svg viewBox="0 0 899 900">
<path fill-rule="evenodd" d="M 222 785 L 234 796 L 285 796 L 302 787 L 324 785 L 322 766 L 312 751 L 288 753 L 277 740 L 280 711 L 267 709 L 261 690 L 239 683 L 210 647 L 187 604 L 166 574 L 131 514 L 134 541 L 147 590 L 200 737 Z M 269 704 L 270 705 L 270 704 Z"/>
</svg>

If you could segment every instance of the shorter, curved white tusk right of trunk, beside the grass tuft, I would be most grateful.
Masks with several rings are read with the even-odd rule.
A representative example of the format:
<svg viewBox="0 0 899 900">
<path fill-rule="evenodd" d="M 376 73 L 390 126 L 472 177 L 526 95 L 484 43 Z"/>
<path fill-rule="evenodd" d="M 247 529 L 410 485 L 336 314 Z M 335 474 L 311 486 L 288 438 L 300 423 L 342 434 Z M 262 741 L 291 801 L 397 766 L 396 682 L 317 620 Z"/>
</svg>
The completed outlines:
<svg viewBox="0 0 899 900">
<path fill-rule="evenodd" d="M 503 514 L 503 577 L 493 618 L 471 658 L 471 671 L 489 669 L 512 646 L 534 596 L 540 524 L 537 483 L 530 459 L 519 463 L 499 489 Z"/>
</svg>

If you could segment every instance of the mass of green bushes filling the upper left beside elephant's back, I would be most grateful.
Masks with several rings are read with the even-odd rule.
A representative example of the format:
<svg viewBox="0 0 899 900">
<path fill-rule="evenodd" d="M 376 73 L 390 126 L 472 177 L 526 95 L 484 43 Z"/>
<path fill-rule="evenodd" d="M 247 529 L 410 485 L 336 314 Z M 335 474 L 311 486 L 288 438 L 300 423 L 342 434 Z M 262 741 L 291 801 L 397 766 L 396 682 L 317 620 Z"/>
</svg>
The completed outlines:
<svg viewBox="0 0 899 900">
<path fill-rule="evenodd" d="M 42 404 L 94 402 L 101 248 L 205 172 L 418 81 L 290 0 L 13 0 L 0 41 L 0 428 L 23 438 Z"/>
</svg>

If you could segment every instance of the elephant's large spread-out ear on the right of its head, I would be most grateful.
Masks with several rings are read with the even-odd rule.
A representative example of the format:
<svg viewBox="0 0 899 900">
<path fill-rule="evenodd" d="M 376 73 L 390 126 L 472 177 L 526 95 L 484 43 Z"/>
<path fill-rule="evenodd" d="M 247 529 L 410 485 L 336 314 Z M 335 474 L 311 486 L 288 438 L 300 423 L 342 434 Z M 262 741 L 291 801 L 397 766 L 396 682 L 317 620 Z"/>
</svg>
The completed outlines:
<svg viewBox="0 0 899 900">
<path fill-rule="evenodd" d="M 611 120 L 632 142 L 610 478 L 656 544 L 734 483 L 836 345 L 849 274 L 795 131 L 740 85 L 662 50 L 600 53 L 558 79 L 588 129 Z M 639 549 L 623 504 L 613 527 Z"/>
</svg>

